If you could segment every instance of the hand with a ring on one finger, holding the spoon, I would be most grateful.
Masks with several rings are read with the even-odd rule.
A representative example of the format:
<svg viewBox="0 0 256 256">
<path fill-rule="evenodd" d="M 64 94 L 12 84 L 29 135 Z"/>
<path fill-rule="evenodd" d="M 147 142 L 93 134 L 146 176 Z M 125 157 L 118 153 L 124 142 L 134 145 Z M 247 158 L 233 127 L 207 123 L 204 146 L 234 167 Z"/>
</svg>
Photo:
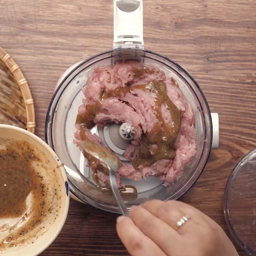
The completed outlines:
<svg viewBox="0 0 256 256">
<path fill-rule="evenodd" d="M 189 219 L 177 228 L 177 222 Z M 130 219 L 131 218 L 131 219 Z M 238 256 L 222 228 L 180 201 L 151 200 L 117 218 L 117 234 L 132 256 Z"/>
</svg>

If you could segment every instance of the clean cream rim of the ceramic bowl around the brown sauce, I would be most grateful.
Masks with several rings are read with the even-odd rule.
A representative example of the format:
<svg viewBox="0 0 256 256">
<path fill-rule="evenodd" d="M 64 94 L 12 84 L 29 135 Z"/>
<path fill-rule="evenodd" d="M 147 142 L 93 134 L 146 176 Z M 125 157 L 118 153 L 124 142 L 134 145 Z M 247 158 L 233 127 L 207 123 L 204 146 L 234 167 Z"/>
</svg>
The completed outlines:
<svg viewBox="0 0 256 256">
<path fill-rule="evenodd" d="M 58 156 L 43 140 L 33 133 L 11 125 L 0 124 L 0 137 L 6 139 L 26 140 L 28 143 L 35 145 L 36 148 L 45 154 L 45 158 L 50 161 L 50 165 L 55 168 L 58 175 L 58 184 L 60 184 L 60 195 L 62 200 L 57 219 L 46 227 L 45 233 L 38 236 L 38 238 L 34 240 L 33 244 L 32 242 L 28 241 L 25 244 L 5 249 L 2 252 L 0 251 L 0 256 L 36 256 L 43 252 L 50 244 L 52 244 L 60 233 L 60 230 L 62 229 L 67 218 L 69 192 L 66 171 L 63 166 L 56 168 L 56 166 L 61 164 Z"/>
</svg>

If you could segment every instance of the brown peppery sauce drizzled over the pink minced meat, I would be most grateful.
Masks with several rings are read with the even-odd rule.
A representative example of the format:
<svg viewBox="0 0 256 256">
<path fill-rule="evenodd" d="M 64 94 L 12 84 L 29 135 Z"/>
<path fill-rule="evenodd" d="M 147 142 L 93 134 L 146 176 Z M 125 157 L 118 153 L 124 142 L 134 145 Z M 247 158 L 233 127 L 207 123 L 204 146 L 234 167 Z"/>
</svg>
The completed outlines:
<svg viewBox="0 0 256 256">
<path fill-rule="evenodd" d="M 148 69 L 147 67 L 142 67 L 134 68 L 133 72 L 135 77 L 140 77 L 145 73 L 152 74 L 155 71 Z M 120 97 L 135 89 L 151 92 L 151 94 L 154 96 L 155 103 L 153 106 L 153 111 L 159 122 L 156 123 L 150 131 L 142 134 L 139 154 L 132 159 L 133 167 L 139 168 L 139 166 L 150 166 L 161 159 L 172 159 L 174 157 L 174 143 L 178 136 L 181 125 L 180 111 L 168 97 L 166 92 L 166 84 L 163 81 L 151 81 L 150 83 L 143 85 L 128 85 L 124 88 L 118 88 L 113 91 L 102 92 L 102 97 L 99 102 L 86 106 L 87 111 L 84 116 L 77 115 L 76 124 L 83 125 L 88 129 L 92 128 L 94 125 L 93 119 L 101 110 L 100 105 L 102 100 L 111 97 Z M 171 113 L 171 124 L 166 124 L 164 121 L 161 113 L 162 104 L 164 104 Z M 157 150 L 155 150 L 154 155 L 150 153 L 150 145 L 152 144 L 157 146 Z M 94 161 L 92 160 L 92 162 Z"/>
</svg>

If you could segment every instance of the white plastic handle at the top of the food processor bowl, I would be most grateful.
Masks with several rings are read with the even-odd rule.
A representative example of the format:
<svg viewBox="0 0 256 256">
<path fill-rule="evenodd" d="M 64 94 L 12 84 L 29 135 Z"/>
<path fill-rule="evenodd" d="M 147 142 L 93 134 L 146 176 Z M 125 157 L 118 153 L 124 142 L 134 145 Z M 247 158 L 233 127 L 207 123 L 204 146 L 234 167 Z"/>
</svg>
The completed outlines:
<svg viewBox="0 0 256 256">
<path fill-rule="evenodd" d="M 114 0 L 113 47 L 143 45 L 142 0 Z"/>
</svg>

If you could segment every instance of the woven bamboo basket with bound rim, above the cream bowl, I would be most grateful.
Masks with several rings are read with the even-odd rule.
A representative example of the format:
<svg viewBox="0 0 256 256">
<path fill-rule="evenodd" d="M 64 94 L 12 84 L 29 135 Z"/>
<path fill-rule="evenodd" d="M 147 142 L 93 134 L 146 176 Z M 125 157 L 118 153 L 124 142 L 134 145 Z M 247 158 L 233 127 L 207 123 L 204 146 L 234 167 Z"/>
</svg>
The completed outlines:
<svg viewBox="0 0 256 256">
<path fill-rule="evenodd" d="M 19 66 L 0 47 L 0 123 L 35 132 L 34 101 Z"/>
</svg>

